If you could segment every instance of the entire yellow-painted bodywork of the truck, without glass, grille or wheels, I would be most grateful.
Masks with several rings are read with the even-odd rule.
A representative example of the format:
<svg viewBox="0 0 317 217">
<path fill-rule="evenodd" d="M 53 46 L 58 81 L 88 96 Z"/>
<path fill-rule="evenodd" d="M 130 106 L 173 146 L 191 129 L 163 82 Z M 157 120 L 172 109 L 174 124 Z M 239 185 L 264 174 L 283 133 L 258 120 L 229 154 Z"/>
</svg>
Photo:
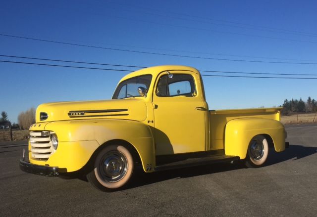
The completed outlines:
<svg viewBox="0 0 317 217">
<path fill-rule="evenodd" d="M 158 79 L 167 71 L 193 76 L 195 93 L 159 97 Z M 186 66 L 146 68 L 126 75 L 120 82 L 146 74 L 152 75 L 146 97 L 40 105 L 37 123 L 30 130 L 54 131 L 59 144 L 47 161 L 30 158 L 30 162 L 72 172 L 82 168 L 100 146 L 123 141 L 135 148 L 144 171 L 151 164 L 152 170 L 146 172 L 153 172 L 157 155 L 224 149 L 227 155 L 243 159 L 251 138 L 257 134 L 270 135 L 275 150 L 284 150 L 280 108 L 208 111 L 200 73 Z M 40 112 L 46 112 L 48 119 L 40 121 Z"/>
</svg>

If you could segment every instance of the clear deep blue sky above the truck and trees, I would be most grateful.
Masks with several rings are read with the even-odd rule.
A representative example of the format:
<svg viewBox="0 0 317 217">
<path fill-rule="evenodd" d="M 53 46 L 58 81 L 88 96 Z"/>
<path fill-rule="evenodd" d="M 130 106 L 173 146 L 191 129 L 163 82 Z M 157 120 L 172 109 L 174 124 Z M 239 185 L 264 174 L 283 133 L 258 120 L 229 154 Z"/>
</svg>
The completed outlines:
<svg viewBox="0 0 317 217">
<path fill-rule="evenodd" d="M 0 7 L 0 34 L 175 55 L 316 64 L 184 58 L 4 36 L 0 36 L 0 55 L 137 66 L 177 64 L 213 71 L 317 74 L 316 8 L 313 0 L 10 0 L 1 2 Z M 8 57 L 0 60 L 66 65 Z M 44 102 L 109 99 L 125 74 L 0 62 L 0 110 L 8 113 L 11 122 L 17 122 L 21 111 Z M 285 98 L 317 99 L 316 82 L 204 77 L 210 109 L 278 106 Z"/>
</svg>

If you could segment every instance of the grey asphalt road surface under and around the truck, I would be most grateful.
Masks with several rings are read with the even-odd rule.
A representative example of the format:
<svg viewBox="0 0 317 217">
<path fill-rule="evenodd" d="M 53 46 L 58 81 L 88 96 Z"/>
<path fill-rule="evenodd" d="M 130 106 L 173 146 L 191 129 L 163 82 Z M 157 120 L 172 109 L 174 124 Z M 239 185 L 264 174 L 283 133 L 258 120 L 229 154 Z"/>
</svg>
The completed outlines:
<svg viewBox="0 0 317 217">
<path fill-rule="evenodd" d="M 25 142 L 0 143 L 0 216 L 316 216 L 317 125 L 288 126 L 290 148 L 267 165 L 209 166 L 140 174 L 105 193 L 87 181 L 19 170 Z"/>
</svg>

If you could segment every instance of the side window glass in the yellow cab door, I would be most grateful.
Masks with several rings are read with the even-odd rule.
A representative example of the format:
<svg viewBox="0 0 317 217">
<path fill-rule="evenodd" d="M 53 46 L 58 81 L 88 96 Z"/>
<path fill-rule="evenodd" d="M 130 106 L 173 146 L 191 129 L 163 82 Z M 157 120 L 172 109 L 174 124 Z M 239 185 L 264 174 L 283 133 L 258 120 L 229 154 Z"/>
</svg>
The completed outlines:
<svg viewBox="0 0 317 217">
<path fill-rule="evenodd" d="M 195 93 L 194 78 L 187 74 L 174 74 L 173 78 L 161 76 L 156 90 L 157 96 L 194 96 Z"/>
</svg>

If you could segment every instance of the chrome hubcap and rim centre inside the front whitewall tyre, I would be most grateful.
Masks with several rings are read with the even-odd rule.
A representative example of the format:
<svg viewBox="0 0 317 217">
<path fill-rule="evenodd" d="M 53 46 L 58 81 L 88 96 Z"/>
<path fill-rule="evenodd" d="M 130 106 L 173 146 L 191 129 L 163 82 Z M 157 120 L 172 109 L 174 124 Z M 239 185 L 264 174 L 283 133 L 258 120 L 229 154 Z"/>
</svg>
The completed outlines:
<svg viewBox="0 0 317 217">
<path fill-rule="evenodd" d="M 100 161 L 100 174 L 109 182 L 119 181 L 126 174 L 128 163 L 119 151 L 110 151 Z"/>
</svg>

